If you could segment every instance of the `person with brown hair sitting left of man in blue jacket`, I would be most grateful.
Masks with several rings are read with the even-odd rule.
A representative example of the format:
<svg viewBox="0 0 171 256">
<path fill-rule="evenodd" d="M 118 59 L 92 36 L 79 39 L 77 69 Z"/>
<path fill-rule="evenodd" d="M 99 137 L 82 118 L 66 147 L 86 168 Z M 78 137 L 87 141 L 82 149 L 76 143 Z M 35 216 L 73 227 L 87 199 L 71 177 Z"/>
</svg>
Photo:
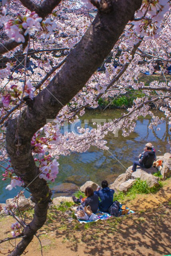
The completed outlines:
<svg viewBox="0 0 171 256">
<path fill-rule="evenodd" d="M 85 198 L 84 202 L 81 202 L 82 196 L 80 196 L 80 199 L 77 199 L 76 196 L 72 196 L 72 199 L 75 203 L 81 203 L 83 207 L 90 206 L 93 213 L 97 212 L 99 208 L 99 198 L 91 187 L 85 188 L 85 196 L 87 196 L 87 198 Z"/>
</svg>

